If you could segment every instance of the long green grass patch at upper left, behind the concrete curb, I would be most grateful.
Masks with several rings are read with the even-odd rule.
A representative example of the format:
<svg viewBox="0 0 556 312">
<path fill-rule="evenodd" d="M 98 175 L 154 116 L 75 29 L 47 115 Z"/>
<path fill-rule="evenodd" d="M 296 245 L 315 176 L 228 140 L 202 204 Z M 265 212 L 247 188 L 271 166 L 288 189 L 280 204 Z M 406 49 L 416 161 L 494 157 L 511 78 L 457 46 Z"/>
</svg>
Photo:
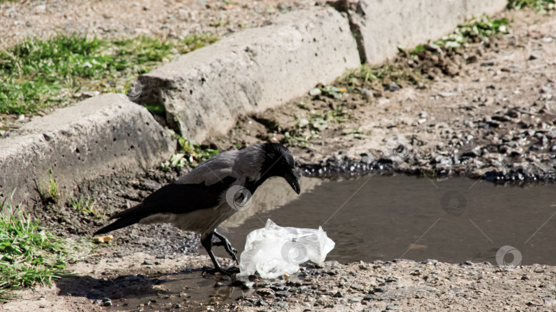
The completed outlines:
<svg viewBox="0 0 556 312">
<path fill-rule="evenodd" d="M 78 101 L 84 92 L 125 92 L 137 75 L 216 40 L 211 34 L 182 40 L 78 34 L 27 39 L 0 50 L 0 113 L 36 113 Z"/>
</svg>

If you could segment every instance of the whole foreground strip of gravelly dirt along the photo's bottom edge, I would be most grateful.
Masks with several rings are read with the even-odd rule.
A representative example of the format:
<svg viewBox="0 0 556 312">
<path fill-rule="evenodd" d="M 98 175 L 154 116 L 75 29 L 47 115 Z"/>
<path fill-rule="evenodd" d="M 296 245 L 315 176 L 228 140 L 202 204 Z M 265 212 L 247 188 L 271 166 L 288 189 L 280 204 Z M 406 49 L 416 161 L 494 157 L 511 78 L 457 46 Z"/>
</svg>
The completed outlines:
<svg viewBox="0 0 556 312">
<path fill-rule="evenodd" d="M 154 265 L 144 265 L 144 261 Z M 225 260 L 224 260 L 225 263 Z M 73 266 L 56 287 L 23 291 L 0 311 L 554 311 L 556 269 L 430 259 L 308 264 L 290 278 L 200 276 L 207 256 L 136 253 Z M 124 273 L 125 272 L 125 273 Z M 178 276 L 178 287 L 168 274 Z M 165 276 L 166 275 L 166 276 Z M 187 280 L 191 278 L 192 280 Z M 193 283 L 196 282 L 196 283 Z M 199 287 L 198 285 L 204 286 Z M 230 285 L 235 285 L 231 287 Z M 200 293 L 205 294 L 202 298 Z M 110 299 L 111 306 L 106 306 Z"/>
</svg>

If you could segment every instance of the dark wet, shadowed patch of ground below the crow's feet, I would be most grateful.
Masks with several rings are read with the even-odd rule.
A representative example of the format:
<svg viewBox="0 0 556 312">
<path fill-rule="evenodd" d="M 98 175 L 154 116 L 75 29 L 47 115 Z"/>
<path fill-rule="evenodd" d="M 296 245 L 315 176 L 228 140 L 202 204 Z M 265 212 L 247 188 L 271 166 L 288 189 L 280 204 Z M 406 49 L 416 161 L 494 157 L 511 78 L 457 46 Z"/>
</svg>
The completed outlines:
<svg viewBox="0 0 556 312">
<path fill-rule="evenodd" d="M 60 295 L 86 297 L 93 305 L 112 311 L 207 311 L 204 305 L 233 303 L 243 295 L 242 287 L 231 287 L 229 278 L 217 284 L 214 276 L 203 275 L 201 269 L 153 276 L 75 276 L 62 278 L 56 286 Z"/>
</svg>

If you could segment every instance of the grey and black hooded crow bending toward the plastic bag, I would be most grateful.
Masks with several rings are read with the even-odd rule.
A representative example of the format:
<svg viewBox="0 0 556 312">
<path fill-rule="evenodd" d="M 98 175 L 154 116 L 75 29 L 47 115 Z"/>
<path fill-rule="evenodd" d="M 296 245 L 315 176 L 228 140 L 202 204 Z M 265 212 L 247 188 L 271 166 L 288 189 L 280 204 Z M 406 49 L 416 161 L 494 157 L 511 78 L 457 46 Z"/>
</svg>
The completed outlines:
<svg viewBox="0 0 556 312">
<path fill-rule="evenodd" d="M 296 193 L 301 191 L 294 158 L 281 144 L 256 144 L 223 152 L 200 163 L 179 180 L 154 191 L 141 204 L 113 215 L 111 219 L 116 221 L 97 230 L 95 235 L 136 223 L 171 223 L 182 230 L 200 233 L 201 244 L 215 271 L 231 275 L 238 272 L 238 268 L 220 267 L 212 246 L 223 245 L 239 264 L 237 251 L 216 228 L 249 202 L 257 187 L 274 176 L 285 178 Z M 213 243 L 213 235 L 220 242 Z"/>
</svg>

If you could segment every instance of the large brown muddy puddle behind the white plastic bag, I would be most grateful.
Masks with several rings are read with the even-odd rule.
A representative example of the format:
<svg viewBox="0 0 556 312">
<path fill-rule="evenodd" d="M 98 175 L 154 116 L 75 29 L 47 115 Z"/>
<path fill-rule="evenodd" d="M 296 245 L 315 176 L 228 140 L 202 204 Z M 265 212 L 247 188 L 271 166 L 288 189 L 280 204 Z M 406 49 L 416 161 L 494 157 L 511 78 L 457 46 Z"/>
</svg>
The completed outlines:
<svg viewBox="0 0 556 312">
<path fill-rule="evenodd" d="M 229 225 L 238 251 L 248 232 L 272 219 L 280 226 L 323 226 L 336 242 L 327 260 L 340 263 L 404 258 L 496 264 L 498 249 L 510 245 L 524 265 L 556 265 L 553 184 L 501 187 L 463 178 L 375 175 L 316 182 L 298 197 L 283 196 L 294 200 Z"/>
</svg>

